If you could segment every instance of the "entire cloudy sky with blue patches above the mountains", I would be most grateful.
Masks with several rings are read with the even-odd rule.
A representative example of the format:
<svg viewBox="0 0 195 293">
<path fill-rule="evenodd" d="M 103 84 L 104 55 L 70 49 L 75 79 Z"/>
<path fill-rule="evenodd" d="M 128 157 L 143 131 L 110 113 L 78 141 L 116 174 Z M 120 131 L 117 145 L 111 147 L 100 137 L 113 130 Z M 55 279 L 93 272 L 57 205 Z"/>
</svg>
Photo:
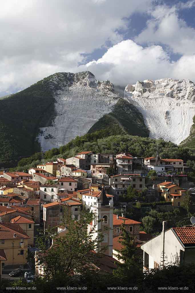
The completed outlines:
<svg viewBox="0 0 195 293">
<path fill-rule="evenodd" d="M 62 71 L 195 82 L 195 0 L 7 0 L 0 26 L 0 96 Z"/>
</svg>

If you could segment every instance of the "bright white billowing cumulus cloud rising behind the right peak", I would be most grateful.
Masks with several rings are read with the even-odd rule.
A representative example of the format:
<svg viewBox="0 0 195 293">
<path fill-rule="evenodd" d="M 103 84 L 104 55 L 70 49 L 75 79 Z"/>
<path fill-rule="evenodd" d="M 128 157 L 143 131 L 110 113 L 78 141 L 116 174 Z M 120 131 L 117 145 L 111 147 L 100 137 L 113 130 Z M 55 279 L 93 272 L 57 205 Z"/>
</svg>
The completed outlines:
<svg viewBox="0 0 195 293">
<path fill-rule="evenodd" d="M 109 48 L 102 58 L 87 64 L 100 80 L 110 79 L 115 85 L 126 86 L 144 79 L 190 79 L 195 76 L 195 56 L 182 56 L 171 62 L 159 45 L 141 47 L 126 40 Z M 83 68 L 83 67 L 82 67 Z"/>
</svg>

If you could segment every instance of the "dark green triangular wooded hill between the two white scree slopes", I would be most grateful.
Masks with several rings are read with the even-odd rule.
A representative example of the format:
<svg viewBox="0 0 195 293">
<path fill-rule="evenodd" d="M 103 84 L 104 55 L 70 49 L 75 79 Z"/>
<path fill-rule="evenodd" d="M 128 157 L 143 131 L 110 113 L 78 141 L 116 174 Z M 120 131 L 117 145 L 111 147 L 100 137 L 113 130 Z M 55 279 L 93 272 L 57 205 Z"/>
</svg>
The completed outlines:
<svg viewBox="0 0 195 293">
<path fill-rule="evenodd" d="M 104 114 L 88 131 L 109 130 L 110 135 L 132 134 L 149 137 L 149 130 L 137 108 L 120 98 L 109 114 Z"/>
</svg>

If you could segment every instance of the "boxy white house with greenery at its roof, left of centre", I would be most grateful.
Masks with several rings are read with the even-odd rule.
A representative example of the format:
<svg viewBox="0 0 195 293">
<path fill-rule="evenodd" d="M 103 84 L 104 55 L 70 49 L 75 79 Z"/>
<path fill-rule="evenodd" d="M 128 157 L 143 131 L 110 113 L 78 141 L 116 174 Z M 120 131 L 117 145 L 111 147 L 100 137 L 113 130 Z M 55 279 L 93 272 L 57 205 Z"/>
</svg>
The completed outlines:
<svg viewBox="0 0 195 293">
<path fill-rule="evenodd" d="M 59 184 L 42 184 L 40 185 L 40 198 L 47 202 L 54 202 L 58 199 Z"/>
</svg>

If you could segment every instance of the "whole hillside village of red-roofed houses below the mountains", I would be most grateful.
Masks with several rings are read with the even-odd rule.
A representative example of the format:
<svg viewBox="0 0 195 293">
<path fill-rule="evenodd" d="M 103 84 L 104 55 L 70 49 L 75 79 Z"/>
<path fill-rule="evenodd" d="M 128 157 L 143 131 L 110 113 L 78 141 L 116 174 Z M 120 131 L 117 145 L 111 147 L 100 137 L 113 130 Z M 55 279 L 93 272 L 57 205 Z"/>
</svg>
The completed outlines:
<svg viewBox="0 0 195 293">
<path fill-rule="evenodd" d="M 135 239 L 144 270 L 195 261 L 195 228 L 190 223 L 195 188 L 189 171 L 182 159 L 93 151 L 37 165 L 28 173 L 2 170 L 1 275 L 15 268 L 41 275 L 43 269 L 36 262 L 33 267 L 28 255 L 33 253 L 36 260 L 38 229 L 68 233 L 61 226 L 65 211 L 75 221 L 82 210 L 96 215 L 87 226 L 88 233 L 96 227 L 92 239 L 108 228 L 101 241 L 106 248 L 102 271 L 112 271 L 115 261 L 121 261 L 122 224 Z"/>
</svg>

